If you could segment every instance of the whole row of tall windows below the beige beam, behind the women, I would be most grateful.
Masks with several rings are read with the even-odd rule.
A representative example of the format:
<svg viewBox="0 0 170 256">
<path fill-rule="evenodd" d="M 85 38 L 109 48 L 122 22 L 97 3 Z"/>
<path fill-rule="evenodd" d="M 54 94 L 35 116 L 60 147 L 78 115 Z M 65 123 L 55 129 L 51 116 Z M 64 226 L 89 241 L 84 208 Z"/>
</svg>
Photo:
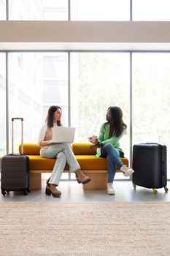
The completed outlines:
<svg viewBox="0 0 170 256">
<path fill-rule="evenodd" d="M 120 146 L 130 159 L 132 97 L 132 145 L 165 144 L 170 178 L 170 53 L 132 53 L 132 95 L 128 52 L 71 52 L 70 63 L 68 53 L 63 52 L 15 52 L 8 56 L 9 151 L 12 117 L 24 118 L 24 142 L 36 142 L 48 108 L 59 105 L 64 126 L 69 125 L 71 113 L 71 126 L 76 127 L 75 141 L 88 142 L 88 137 L 98 135 L 101 124 L 106 121 L 107 108 L 117 105 L 122 108 L 123 121 L 128 125 Z M 5 80 L 5 53 L 0 53 L 0 154 L 6 151 Z M 16 151 L 18 143 L 20 124 L 15 131 Z M 117 173 L 116 178 L 123 177 Z"/>
</svg>

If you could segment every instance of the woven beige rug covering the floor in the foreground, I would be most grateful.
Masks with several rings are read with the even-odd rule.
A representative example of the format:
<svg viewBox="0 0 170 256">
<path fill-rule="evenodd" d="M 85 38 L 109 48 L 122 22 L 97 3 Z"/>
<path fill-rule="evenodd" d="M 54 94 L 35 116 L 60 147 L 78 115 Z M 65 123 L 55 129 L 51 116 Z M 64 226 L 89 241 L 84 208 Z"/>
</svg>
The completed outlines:
<svg viewBox="0 0 170 256">
<path fill-rule="evenodd" d="M 170 255 L 170 203 L 0 203 L 0 255 Z"/>
</svg>

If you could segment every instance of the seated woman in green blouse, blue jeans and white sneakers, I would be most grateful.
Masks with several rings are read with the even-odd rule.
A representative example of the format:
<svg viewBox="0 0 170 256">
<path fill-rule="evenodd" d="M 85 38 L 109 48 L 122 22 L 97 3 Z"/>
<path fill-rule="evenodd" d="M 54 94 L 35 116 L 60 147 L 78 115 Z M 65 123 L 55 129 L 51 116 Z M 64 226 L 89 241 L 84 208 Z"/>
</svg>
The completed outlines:
<svg viewBox="0 0 170 256">
<path fill-rule="evenodd" d="M 123 122 L 123 112 L 119 107 L 109 107 L 106 115 L 107 122 L 101 125 L 101 129 L 96 140 L 89 138 L 93 143 L 91 148 L 97 148 L 96 157 L 107 158 L 108 184 L 107 193 L 115 195 L 113 180 L 115 177 L 117 166 L 123 172 L 124 176 L 130 176 L 134 170 L 123 165 L 120 157 L 124 157 L 124 153 L 120 148 L 119 140 L 125 134 L 127 128 Z"/>
</svg>

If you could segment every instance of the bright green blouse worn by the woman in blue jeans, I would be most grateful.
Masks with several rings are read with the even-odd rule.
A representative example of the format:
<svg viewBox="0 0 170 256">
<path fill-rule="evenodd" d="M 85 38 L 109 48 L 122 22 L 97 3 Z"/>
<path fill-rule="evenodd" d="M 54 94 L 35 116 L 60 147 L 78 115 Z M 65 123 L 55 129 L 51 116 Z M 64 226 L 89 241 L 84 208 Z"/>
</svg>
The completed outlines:
<svg viewBox="0 0 170 256">
<path fill-rule="evenodd" d="M 119 140 L 125 134 L 125 129 L 123 129 L 123 132 L 119 137 L 112 136 L 111 138 L 109 138 L 110 124 L 109 123 L 104 123 L 104 124 L 101 125 L 101 129 L 98 135 L 98 141 L 102 144 L 112 143 L 112 145 L 115 146 L 115 148 L 117 148 L 119 151 L 122 151 L 122 149 L 120 148 Z M 97 153 L 96 157 L 100 157 L 101 148 L 97 148 L 96 153 Z"/>
</svg>

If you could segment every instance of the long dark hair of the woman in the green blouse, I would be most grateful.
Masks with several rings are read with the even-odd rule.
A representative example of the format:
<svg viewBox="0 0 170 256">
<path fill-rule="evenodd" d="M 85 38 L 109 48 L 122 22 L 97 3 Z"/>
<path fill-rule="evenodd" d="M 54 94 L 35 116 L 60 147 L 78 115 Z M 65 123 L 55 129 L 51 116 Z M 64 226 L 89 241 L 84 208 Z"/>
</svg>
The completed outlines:
<svg viewBox="0 0 170 256">
<path fill-rule="evenodd" d="M 110 123 L 109 138 L 112 136 L 119 137 L 123 129 L 127 129 L 127 125 L 123 122 L 123 112 L 121 108 L 115 106 L 109 107 L 108 110 L 112 113 L 112 120 L 105 123 Z"/>
</svg>

